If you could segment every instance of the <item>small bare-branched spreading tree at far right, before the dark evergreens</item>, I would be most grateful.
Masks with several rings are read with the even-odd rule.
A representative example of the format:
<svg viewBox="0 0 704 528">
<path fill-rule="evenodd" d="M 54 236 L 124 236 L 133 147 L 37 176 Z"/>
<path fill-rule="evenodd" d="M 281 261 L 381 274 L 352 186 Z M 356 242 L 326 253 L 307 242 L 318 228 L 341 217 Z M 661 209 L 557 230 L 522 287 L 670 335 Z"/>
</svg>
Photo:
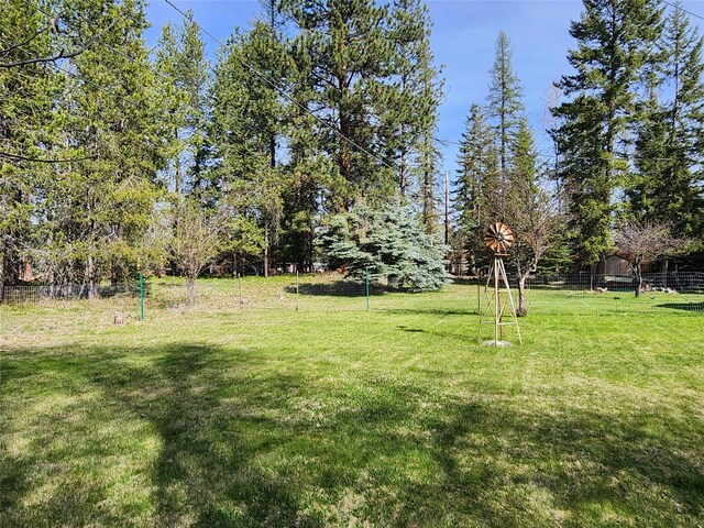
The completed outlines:
<svg viewBox="0 0 704 528">
<path fill-rule="evenodd" d="M 642 289 L 642 265 L 662 256 L 683 253 L 690 242 L 670 234 L 668 223 L 625 222 L 616 233 L 618 256 L 630 264 L 635 278 L 636 297 Z"/>
</svg>

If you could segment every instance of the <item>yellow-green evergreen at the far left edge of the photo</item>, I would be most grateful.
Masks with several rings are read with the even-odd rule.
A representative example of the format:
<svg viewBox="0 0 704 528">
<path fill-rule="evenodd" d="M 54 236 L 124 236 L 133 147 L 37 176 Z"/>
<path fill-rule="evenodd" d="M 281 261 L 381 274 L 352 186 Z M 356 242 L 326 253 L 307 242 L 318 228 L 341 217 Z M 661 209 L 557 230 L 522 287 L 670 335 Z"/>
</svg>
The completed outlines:
<svg viewBox="0 0 704 528">
<path fill-rule="evenodd" d="M 1 2 L 0 20 L 0 63 L 54 56 L 63 44 L 34 3 Z M 0 300 L 2 286 L 22 277 L 28 248 L 41 245 L 42 189 L 54 167 L 31 160 L 61 157 L 52 110 L 63 80 L 51 64 L 0 67 Z"/>
</svg>

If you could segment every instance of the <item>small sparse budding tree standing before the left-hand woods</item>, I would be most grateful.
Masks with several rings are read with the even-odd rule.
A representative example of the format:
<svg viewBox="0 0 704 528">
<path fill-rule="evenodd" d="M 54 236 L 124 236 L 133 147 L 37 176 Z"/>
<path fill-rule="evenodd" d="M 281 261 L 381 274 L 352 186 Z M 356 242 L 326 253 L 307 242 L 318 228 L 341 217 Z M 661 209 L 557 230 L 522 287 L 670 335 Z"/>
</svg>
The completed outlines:
<svg viewBox="0 0 704 528">
<path fill-rule="evenodd" d="M 220 248 L 220 221 L 209 217 L 200 206 L 184 201 L 176 209 L 176 228 L 172 240 L 174 258 L 186 277 L 188 304 L 194 306 L 196 278 Z"/>
</svg>

